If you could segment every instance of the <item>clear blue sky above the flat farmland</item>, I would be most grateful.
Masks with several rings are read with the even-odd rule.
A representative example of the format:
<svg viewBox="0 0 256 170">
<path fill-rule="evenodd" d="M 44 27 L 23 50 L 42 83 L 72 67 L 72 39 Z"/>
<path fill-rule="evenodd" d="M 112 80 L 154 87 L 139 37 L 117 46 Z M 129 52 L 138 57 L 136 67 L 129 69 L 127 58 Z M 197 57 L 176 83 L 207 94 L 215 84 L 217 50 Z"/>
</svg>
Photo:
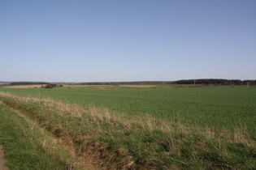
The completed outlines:
<svg viewBox="0 0 256 170">
<path fill-rule="evenodd" d="M 0 1 L 0 81 L 256 79 L 255 0 Z"/>
</svg>

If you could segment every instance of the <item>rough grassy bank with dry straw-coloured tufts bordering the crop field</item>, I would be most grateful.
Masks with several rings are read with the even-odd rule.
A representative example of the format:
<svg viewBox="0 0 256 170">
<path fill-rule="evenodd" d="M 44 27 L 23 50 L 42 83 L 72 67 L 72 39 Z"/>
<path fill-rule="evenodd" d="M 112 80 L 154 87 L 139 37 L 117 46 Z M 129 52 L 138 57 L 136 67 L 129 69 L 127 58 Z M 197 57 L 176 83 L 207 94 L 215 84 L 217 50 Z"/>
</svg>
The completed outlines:
<svg viewBox="0 0 256 170">
<path fill-rule="evenodd" d="M 102 168 L 256 168 L 254 136 L 244 125 L 207 128 L 7 93 L 0 99 L 73 147 L 77 164 L 91 157 Z"/>
</svg>

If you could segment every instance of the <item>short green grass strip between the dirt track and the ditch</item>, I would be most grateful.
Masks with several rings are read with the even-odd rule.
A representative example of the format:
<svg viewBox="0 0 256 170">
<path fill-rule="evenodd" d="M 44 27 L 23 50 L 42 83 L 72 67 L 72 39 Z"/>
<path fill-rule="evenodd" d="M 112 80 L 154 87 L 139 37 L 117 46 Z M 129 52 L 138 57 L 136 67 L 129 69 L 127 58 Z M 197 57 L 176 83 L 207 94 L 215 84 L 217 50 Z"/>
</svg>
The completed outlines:
<svg viewBox="0 0 256 170">
<path fill-rule="evenodd" d="M 72 169 L 72 148 L 0 101 L 0 144 L 11 169 Z M 79 166 L 77 166 L 79 167 Z"/>
</svg>

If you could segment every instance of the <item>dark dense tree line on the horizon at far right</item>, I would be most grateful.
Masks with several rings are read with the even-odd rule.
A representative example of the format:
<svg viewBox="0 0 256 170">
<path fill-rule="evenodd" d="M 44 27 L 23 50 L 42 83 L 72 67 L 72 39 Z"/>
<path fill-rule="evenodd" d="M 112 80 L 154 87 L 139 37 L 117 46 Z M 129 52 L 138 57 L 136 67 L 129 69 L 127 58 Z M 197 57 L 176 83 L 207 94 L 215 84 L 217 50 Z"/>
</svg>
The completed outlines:
<svg viewBox="0 0 256 170">
<path fill-rule="evenodd" d="M 240 79 L 182 79 L 173 82 L 174 84 L 205 84 L 205 85 L 256 85 L 256 80 L 240 80 Z"/>
</svg>

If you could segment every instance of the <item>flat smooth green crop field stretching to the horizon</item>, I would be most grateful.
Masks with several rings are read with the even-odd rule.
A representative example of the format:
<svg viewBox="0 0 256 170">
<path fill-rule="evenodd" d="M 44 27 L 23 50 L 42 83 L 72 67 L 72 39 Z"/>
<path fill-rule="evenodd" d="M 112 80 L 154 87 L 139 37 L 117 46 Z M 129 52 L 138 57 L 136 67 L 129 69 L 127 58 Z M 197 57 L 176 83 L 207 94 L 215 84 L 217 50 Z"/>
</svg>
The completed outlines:
<svg viewBox="0 0 256 170">
<path fill-rule="evenodd" d="M 19 96 L 33 96 L 109 108 L 131 115 L 178 119 L 199 125 L 233 127 L 247 125 L 255 130 L 256 88 L 148 88 L 148 89 L 6 89 Z"/>
</svg>

